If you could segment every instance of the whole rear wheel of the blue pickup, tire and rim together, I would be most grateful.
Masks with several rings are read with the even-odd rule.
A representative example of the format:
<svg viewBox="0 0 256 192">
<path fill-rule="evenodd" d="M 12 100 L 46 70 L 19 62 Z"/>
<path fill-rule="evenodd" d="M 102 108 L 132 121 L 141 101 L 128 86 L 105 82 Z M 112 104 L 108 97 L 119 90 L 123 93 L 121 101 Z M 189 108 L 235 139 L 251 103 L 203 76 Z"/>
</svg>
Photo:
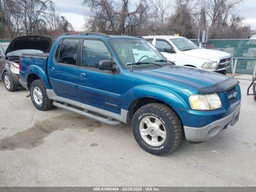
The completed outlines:
<svg viewBox="0 0 256 192">
<path fill-rule="evenodd" d="M 52 108 L 53 100 L 50 100 L 42 80 L 34 80 L 30 85 L 30 96 L 34 106 L 41 111 Z"/>
</svg>

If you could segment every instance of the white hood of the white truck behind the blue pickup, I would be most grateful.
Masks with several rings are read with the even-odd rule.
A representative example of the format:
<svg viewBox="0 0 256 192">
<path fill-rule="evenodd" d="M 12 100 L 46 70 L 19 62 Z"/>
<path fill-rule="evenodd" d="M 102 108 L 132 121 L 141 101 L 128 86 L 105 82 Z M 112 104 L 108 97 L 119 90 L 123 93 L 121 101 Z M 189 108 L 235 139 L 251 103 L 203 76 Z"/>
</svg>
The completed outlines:
<svg viewBox="0 0 256 192">
<path fill-rule="evenodd" d="M 212 49 L 193 49 L 189 51 L 184 51 L 183 53 L 186 56 L 207 59 L 213 62 L 218 62 L 222 57 L 231 56 L 229 53 L 226 53 L 224 51 Z"/>
</svg>

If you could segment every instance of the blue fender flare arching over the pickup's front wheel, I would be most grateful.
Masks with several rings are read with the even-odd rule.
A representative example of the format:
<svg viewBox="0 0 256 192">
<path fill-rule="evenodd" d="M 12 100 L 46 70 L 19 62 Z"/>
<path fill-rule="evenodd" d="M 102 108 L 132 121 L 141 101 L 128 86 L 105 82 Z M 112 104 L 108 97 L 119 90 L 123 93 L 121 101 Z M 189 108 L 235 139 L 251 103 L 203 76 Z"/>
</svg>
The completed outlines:
<svg viewBox="0 0 256 192">
<path fill-rule="evenodd" d="M 171 107 L 189 108 L 187 102 L 180 95 L 156 85 L 140 85 L 128 90 L 122 96 L 122 108 L 129 110 L 134 100 L 145 97 L 160 100 Z"/>
</svg>

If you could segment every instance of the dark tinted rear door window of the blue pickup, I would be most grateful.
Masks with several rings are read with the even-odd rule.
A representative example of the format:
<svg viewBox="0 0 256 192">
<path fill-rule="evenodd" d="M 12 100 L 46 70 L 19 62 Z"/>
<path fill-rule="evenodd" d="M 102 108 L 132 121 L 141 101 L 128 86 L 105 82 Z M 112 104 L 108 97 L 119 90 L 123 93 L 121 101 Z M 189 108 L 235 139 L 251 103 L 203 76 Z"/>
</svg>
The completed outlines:
<svg viewBox="0 0 256 192">
<path fill-rule="evenodd" d="M 77 48 L 79 39 L 64 39 L 58 58 L 59 63 L 76 65 Z"/>
</svg>

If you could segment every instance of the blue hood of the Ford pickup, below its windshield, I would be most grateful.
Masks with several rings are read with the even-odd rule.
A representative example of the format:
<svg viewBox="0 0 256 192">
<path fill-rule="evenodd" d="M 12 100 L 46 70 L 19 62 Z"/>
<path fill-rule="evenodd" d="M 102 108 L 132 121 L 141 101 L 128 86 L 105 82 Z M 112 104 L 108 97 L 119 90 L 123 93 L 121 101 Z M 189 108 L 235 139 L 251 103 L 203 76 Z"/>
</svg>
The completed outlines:
<svg viewBox="0 0 256 192">
<path fill-rule="evenodd" d="M 227 76 L 192 67 L 166 66 L 141 71 L 142 73 L 159 76 L 162 78 L 178 81 L 195 88 L 202 88 L 214 85 L 226 80 Z"/>
</svg>

